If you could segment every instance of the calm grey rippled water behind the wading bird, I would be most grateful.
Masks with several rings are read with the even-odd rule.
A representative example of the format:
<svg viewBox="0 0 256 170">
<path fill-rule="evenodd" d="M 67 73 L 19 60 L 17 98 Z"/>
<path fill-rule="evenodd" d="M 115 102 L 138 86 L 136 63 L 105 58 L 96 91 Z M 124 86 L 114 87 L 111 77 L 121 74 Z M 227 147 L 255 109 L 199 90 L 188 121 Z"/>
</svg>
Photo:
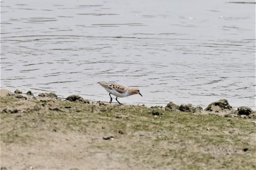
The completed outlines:
<svg viewBox="0 0 256 170">
<path fill-rule="evenodd" d="M 1 1 L 1 88 L 109 101 L 97 82 L 138 86 L 126 104 L 219 99 L 255 109 L 255 4 Z"/>
</svg>

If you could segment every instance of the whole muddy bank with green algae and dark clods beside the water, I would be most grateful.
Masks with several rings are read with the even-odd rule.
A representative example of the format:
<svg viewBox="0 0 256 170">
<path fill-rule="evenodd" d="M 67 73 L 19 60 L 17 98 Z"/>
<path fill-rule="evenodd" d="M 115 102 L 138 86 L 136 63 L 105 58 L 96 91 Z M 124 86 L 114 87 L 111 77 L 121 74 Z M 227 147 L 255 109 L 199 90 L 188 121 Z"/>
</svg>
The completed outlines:
<svg viewBox="0 0 256 170">
<path fill-rule="evenodd" d="M 253 169 L 255 112 L 0 91 L 1 168 Z"/>
</svg>

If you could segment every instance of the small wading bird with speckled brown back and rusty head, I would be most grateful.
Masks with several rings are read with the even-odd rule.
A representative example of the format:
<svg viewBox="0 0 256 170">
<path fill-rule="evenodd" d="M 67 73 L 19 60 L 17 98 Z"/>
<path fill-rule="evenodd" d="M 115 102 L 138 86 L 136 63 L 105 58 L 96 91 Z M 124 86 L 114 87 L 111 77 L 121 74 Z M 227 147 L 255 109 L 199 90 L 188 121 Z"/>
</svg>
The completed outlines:
<svg viewBox="0 0 256 170">
<path fill-rule="evenodd" d="M 110 103 L 112 102 L 111 94 L 116 96 L 116 101 L 118 102 L 117 98 L 124 98 L 129 95 L 133 94 L 140 94 L 140 90 L 137 87 L 127 87 L 120 84 L 108 84 L 108 83 L 100 83 L 98 82 L 106 91 L 110 94 Z M 141 95 L 142 96 L 142 95 Z M 118 102 L 122 105 L 120 102 Z"/>
</svg>

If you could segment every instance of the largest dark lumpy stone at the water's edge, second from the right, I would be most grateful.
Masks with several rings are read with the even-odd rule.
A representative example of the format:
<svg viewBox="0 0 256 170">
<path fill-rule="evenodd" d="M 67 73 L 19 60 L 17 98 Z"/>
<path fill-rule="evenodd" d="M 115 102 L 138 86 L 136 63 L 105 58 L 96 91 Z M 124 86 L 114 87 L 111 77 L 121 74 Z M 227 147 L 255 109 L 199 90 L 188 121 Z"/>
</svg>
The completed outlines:
<svg viewBox="0 0 256 170">
<path fill-rule="evenodd" d="M 221 99 L 217 102 L 212 102 L 204 110 L 217 112 L 217 111 L 221 111 L 221 110 L 225 110 L 225 109 L 231 110 L 232 107 L 228 104 L 228 101 L 226 99 Z"/>
</svg>

